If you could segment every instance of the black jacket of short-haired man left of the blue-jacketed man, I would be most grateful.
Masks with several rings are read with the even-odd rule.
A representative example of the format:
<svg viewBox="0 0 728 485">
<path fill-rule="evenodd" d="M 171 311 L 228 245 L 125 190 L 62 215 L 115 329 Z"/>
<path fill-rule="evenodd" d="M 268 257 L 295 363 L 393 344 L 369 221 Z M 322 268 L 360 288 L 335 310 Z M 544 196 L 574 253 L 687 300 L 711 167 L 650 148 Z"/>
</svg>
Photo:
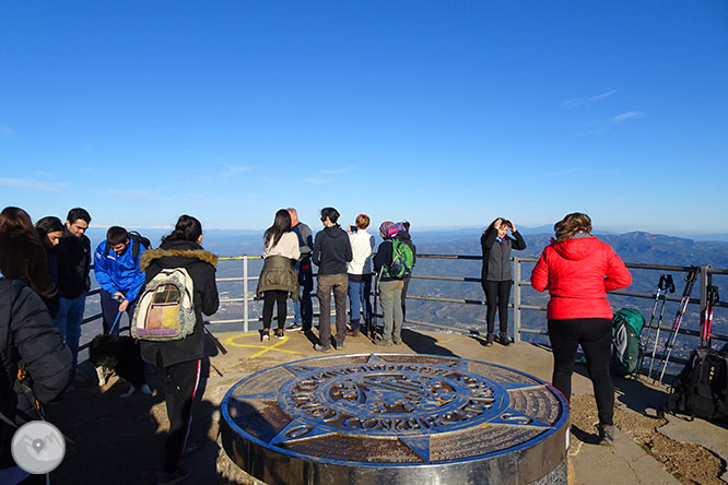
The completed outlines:
<svg viewBox="0 0 728 485">
<path fill-rule="evenodd" d="M 91 240 L 75 237 L 66 226 L 58 242 L 58 286 L 63 298 L 73 299 L 91 287 Z"/>
</svg>

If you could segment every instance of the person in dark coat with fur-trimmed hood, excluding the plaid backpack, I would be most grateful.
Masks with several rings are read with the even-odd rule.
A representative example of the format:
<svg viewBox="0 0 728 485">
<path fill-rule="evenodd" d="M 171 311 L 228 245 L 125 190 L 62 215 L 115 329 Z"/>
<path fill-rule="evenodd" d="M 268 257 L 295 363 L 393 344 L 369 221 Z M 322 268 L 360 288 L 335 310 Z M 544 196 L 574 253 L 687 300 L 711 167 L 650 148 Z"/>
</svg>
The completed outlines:
<svg viewBox="0 0 728 485">
<path fill-rule="evenodd" d="M 195 330 L 187 338 L 173 341 L 140 341 L 142 359 L 156 367 L 164 381 L 164 399 L 169 417 L 169 433 L 164 449 L 164 464 L 158 483 L 177 483 L 189 476 L 191 470 L 180 465 L 179 458 L 189 438 L 192 405 L 198 394 L 200 366 L 204 357 L 204 329 L 202 314 L 218 311 L 220 299 L 215 284 L 218 257 L 206 251 L 202 225 L 190 216 L 181 215 L 175 229 L 162 238 L 157 249 L 142 255 L 141 269 L 149 283 L 163 269 L 184 268 L 192 279 L 195 294 Z"/>
</svg>

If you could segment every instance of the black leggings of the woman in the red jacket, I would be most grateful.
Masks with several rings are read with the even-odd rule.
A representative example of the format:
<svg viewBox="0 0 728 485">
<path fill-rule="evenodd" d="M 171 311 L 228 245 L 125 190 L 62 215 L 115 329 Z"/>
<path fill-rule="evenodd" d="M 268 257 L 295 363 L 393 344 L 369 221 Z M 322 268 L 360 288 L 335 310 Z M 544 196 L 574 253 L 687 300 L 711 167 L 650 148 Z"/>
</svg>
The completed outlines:
<svg viewBox="0 0 728 485">
<path fill-rule="evenodd" d="M 613 424 L 614 386 L 609 374 L 612 321 L 608 318 L 549 319 L 549 339 L 553 350 L 553 387 L 571 400 L 574 357 L 582 345 L 597 400 L 599 424 Z"/>
</svg>

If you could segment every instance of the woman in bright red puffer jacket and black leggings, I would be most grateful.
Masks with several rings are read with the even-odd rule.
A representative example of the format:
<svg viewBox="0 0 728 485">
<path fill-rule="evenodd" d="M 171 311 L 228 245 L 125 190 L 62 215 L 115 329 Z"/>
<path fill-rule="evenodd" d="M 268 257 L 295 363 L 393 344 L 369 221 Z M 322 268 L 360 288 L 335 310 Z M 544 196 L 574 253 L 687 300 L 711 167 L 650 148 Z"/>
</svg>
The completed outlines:
<svg viewBox="0 0 728 485">
<path fill-rule="evenodd" d="M 556 239 L 541 253 L 531 285 L 549 289 L 549 339 L 553 386 L 568 400 L 576 348 L 582 345 L 599 411 L 599 438 L 614 441 L 614 387 L 609 374 L 612 309 L 607 292 L 623 288 L 632 276 L 611 246 L 591 236 L 591 220 L 575 212 L 553 226 Z"/>
</svg>

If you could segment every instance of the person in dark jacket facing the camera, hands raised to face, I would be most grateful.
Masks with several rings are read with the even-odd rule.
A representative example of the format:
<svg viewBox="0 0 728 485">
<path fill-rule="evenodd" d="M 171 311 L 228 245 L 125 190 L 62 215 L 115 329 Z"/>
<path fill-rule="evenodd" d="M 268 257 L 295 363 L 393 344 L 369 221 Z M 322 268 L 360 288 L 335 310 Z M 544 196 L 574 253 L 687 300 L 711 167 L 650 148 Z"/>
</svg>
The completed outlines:
<svg viewBox="0 0 728 485">
<path fill-rule="evenodd" d="M 507 232 L 510 230 L 510 236 Z M 513 285 L 513 271 L 510 269 L 510 249 L 526 249 L 526 241 L 513 222 L 498 217 L 488 226 L 480 237 L 483 250 L 483 271 L 481 282 L 485 292 L 488 304 L 488 335 L 485 345 L 493 345 L 495 330 L 495 310 L 498 310 L 500 330 L 498 342 L 510 344 L 508 336 L 508 300 Z"/>
</svg>

